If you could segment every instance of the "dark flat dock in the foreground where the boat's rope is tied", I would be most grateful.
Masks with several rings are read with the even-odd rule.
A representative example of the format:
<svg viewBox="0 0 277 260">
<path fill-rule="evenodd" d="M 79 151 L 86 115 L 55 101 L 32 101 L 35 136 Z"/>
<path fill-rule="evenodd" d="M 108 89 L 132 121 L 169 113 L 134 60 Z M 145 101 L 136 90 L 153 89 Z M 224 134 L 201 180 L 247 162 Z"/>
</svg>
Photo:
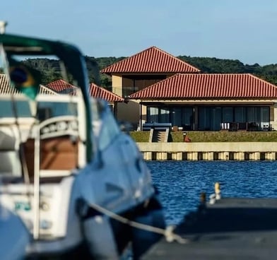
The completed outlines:
<svg viewBox="0 0 277 260">
<path fill-rule="evenodd" d="M 199 204 L 175 229 L 185 244 L 162 239 L 142 259 L 277 259 L 276 219 L 277 199 Z"/>
</svg>

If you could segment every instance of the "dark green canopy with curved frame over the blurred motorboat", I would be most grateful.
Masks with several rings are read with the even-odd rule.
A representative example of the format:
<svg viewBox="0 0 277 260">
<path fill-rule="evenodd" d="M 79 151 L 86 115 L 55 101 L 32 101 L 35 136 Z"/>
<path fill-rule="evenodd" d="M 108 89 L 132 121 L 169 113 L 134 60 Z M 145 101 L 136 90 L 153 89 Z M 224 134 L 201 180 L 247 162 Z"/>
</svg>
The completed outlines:
<svg viewBox="0 0 277 260">
<path fill-rule="evenodd" d="M 74 85 L 80 88 L 83 94 L 83 101 L 86 107 L 86 159 L 89 162 L 93 154 L 92 115 L 88 93 L 88 71 L 85 58 L 80 50 L 65 42 L 10 34 L 0 34 L 0 48 L 1 54 L 7 58 L 8 64 L 12 64 L 14 61 L 13 56 L 18 55 L 24 57 L 53 55 L 58 57 L 64 64 L 66 70 L 73 76 Z"/>
</svg>

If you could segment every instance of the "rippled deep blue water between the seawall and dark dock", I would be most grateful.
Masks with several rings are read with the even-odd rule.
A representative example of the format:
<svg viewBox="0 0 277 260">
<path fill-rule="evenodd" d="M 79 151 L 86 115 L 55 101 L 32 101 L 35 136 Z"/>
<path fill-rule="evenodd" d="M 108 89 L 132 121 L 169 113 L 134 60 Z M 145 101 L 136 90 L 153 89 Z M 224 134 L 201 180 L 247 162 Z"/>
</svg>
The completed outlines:
<svg viewBox="0 0 277 260">
<path fill-rule="evenodd" d="M 148 161 L 168 225 L 196 209 L 220 182 L 221 196 L 277 198 L 277 161 Z"/>
</svg>

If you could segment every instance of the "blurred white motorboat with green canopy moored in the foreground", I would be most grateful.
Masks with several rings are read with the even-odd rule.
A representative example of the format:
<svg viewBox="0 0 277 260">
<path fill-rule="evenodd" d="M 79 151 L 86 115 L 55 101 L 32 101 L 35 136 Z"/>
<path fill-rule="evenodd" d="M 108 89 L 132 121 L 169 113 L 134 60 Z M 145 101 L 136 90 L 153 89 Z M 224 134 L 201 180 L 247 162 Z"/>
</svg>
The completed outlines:
<svg viewBox="0 0 277 260">
<path fill-rule="evenodd" d="M 0 203 L 32 236 L 25 257 L 119 259 L 131 243 L 139 259 L 161 232 L 131 223 L 163 230 L 163 209 L 136 143 L 105 102 L 88 96 L 83 54 L 5 33 L 0 47 L 11 90 L 0 96 Z M 40 73 L 23 58 L 48 56 L 76 95 L 38 93 Z"/>
</svg>

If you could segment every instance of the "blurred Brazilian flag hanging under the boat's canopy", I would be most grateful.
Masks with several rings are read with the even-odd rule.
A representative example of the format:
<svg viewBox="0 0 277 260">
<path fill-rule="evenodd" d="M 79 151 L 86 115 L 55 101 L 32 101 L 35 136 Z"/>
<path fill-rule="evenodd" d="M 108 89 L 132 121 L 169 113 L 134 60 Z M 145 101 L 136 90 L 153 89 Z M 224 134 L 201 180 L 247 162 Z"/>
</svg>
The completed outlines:
<svg viewBox="0 0 277 260">
<path fill-rule="evenodd" d="M 40 90 L 41 74 L 30 66 L 20 64 L 14 59 L 9 59 L 9 75 L 11 83 L 17 90 L 35 100 Z"/>
</svg>

